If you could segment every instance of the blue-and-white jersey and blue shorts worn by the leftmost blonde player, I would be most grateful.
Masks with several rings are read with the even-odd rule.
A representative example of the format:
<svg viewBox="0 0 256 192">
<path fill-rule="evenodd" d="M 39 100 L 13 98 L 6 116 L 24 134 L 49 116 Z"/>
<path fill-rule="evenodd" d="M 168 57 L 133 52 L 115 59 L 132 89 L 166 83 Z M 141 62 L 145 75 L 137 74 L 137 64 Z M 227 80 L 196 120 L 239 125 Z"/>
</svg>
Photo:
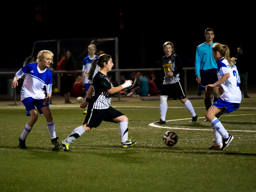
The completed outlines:
<svg viewBox="0 0 256 192">
<path fill-rule="evenodd" d="M 39 68 L 39 63 L 29 63 L 21 68 L 15 76 L 19 79 L 26 75 L 21 92 L 20 100 L 25 105 L 27 112 L 37 107 L 39 113 L 42 115 L 41 108 L 49 107 L 49 104 L 43 105 L 43 99 L 45 98 L 44 85 L 46 87 L 46 93 L 52 93 L 52 72 L 45 68 L 43 71 Z M 39 102 L 40 100 L 40 102 Z M 33 104 L 32 104 L 33 103 Z M 33 107 L 34 105 L 34 107 Z M 27 116 L 30 116 L 27 113 Z"/>
</svg>

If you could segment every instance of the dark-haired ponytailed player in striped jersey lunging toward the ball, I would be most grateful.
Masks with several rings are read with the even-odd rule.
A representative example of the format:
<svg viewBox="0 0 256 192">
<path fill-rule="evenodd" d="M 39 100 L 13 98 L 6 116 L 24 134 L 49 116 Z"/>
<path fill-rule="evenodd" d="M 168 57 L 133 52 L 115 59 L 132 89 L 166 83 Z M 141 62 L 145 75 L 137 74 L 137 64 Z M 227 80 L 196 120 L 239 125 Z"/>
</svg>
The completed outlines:
<svg viewBox="0 0 256 192">
<path fill-rule="evenodd" d="M 74 129 L 67 139 L 60 143 L 64 151 L 70 151 L 69 143 L 85 132 L 90 131 L 93 127 L 98 127 L 102 121 L 119 123 L 121 145 L 124 148 L 131 147 L 137 143 L 137 141 L 128 140 L 128 118 L 120 111 L 110 107 L 112 94 L 131 86 L 132 81 L 125 81 L 121 86 L 113 87 L 107 77 L 107 73 L 111 71 L 114 64 L 111 56 L 107 54 L 100 55 L 99 58 L 92 61 L 92 67 L 89 73 L 86 74 L 89 80 L 92 80 L 97 65 L 100 67 L 100 71 L 94 76 L 92 85 L 87 92 L 87 98 L 80 106 L 85 108 L 88 105 L 88 114 L 85 117 L 84 124 Z"/>
</svg>

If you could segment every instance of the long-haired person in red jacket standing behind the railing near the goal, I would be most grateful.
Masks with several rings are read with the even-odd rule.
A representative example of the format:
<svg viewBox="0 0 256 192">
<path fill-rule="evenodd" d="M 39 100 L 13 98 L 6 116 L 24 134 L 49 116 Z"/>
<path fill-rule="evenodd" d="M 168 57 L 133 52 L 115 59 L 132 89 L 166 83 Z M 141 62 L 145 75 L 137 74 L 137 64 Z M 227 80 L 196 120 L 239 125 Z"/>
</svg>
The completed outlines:
<svg viewBox="0 0 256 192">
<path fill-rule="evenodd" d="M 72 56 L 70 51 L 67 51 L 65 57 L 63 57 L 57 65 L 58 71 L 75 71 L 76 70 L 76 61 Z M 65 103 L 71 103 L 69 101 L 70 92 L 72 90 L 72 86 L 74 84 L 74 77 L 76 77 L 76 73 L 61 73 L 61 89 L 64 93 Z"/>
</svg>

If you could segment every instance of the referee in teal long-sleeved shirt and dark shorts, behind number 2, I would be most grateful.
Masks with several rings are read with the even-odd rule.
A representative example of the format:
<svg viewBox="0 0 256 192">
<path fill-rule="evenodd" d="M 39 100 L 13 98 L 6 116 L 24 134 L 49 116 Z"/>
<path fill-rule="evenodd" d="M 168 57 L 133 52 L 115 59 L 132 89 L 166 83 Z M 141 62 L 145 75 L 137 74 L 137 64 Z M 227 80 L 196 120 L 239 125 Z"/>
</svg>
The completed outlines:
<svg viewBox="0 0 256 192">
<path fill-rule="evenodd" d="M 212 45 L 214 38 L 214 30 L 206 28 L 204 37 L 205 43 L 199 45 L 196 49 L 196 82 L 201 84 L 201 90 L 204 90 L 204 104 L 206 111 L 211 107 L 211 89 L 205 91 L 205 85 L 214 84 L 218 81 L 217 77 L 217 63 L 213 58 Z M 219 87 L 216 86 L 212 89 L 213 103 L 220 98 Z M 205 120 L 207 121 L 207 120 Z"/>
</svg>

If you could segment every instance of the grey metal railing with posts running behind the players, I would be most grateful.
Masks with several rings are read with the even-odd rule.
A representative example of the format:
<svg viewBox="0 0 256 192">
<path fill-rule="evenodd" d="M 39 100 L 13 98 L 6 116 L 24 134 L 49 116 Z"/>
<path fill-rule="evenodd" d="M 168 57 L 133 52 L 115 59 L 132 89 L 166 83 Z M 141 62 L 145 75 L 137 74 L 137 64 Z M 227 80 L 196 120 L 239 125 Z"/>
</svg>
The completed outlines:
<svg viewBox="0 0 256 192">
<path fill-rule="evenodd" d="M 188 68 L 182 68 L 184 70 L 184 91 L 185 93 L 187 94 L 187 70 L 195 70 L 194 67 L 188 67 Z M 121 72 L 128 72 L 128 71 L 161 71 L 162 68 L 147 68 L 147 69 L 112 69 L 111 72 L 116 72 L 116 75 L 117 75 L 117 84 L 118 86 L 120 85 L 121 83 L 121 80 L 120 80 L 120 73 Z M 76 71 L 52 71 L 52 73 L 57 73 L 58 77 L 57 77 L 57 81 L 58 81 L 58 86 L 60 86 L 60 73 L 82 73 L 82 70 L 76 70 Z M 0 75 L 1 74 L 4 74 L 4 75 L 11 75 L 11 74 L 16 74 L 17 71 L 15 72 L 0 72 Z M 118 78 L 119 77 L 119 78 Z M 118 101 L 121 101 L 121 94 L 120 92 L 118 93 Z M 52 104 L 52 100 L 50 99 L 50 104 Z M 14 88 L 14 104 L 16 105 L 16 88 Z"/>
</svg>

